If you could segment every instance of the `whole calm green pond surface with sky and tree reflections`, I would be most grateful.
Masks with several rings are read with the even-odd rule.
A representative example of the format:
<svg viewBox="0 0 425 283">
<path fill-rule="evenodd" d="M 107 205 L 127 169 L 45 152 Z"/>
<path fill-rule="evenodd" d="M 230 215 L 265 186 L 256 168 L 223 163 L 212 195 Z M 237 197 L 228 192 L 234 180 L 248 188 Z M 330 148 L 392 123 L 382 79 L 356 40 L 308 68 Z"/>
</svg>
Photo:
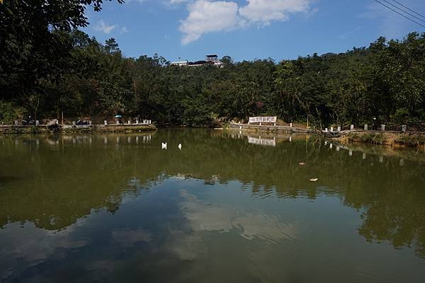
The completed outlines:
<svg viewBox="0 0 425 283">
<path fill-rule="evenodd" d="M 0 282 L 425 282 L 424 160 L 208 129 L 1 136 Z"/>
</svg>

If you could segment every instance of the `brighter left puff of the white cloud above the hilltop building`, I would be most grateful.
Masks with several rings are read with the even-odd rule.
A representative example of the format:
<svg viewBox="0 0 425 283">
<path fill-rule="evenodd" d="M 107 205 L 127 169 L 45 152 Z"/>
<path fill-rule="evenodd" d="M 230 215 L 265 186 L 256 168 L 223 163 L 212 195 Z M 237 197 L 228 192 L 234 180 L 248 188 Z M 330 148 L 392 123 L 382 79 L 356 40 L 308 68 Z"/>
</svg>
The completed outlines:
<svg viewBox="0 0 425 283">
<path fill-rule="evenodd" d="M 237 28 L 240 23 L 234 2 L 198 0 L 188 5 L 189 16 L 181 22 L 183 45 L 198 40 L 204 33 Z"/>
</svg>

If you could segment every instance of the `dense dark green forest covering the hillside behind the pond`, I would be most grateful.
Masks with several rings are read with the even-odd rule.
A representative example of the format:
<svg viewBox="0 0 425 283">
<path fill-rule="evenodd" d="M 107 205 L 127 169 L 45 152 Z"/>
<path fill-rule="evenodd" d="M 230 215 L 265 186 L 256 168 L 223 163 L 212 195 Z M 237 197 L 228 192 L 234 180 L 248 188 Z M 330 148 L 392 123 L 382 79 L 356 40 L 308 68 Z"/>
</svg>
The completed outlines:
<svg viewBox="0 0 425 283">
<path fill-rule="evenodd" d="M 158 54 L 125 57 L 114 38 L 82 32 L 86 7 L 100 11 L 101 0 L 41 2 L 0 4 L 0 122 L 62 112 L 189 126 L 254 115 L 317 127 L 425 120 L 425 33 L 281 62 L 225 56 L 222 68 L 176 67 Z"/>
</svg>

